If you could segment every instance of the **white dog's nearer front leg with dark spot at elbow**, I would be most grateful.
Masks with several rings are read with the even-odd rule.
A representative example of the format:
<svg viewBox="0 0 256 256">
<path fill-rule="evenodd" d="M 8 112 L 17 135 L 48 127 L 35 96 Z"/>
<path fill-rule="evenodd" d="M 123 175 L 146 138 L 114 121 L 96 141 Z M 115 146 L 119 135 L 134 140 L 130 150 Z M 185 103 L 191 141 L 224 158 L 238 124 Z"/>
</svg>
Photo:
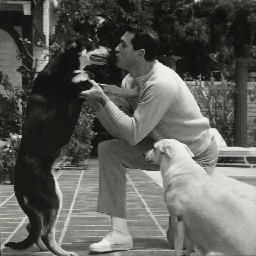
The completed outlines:
<svg viewBox="0 0 256 256">
<path fill-rule="evenodd" d="M 174 256 L 181 256 L 186 226 L 181 216 L 172 215 L 171 221 L 174 230 Z"/>
</svg>

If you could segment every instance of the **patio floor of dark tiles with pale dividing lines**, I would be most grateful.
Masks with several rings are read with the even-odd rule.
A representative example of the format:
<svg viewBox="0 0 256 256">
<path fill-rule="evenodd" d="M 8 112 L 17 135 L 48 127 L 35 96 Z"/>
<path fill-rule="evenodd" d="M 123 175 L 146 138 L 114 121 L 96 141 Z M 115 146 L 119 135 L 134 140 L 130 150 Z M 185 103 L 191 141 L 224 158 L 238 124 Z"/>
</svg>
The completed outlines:
<svg viewBox="0 0 256 256">
<path fill-rule="evenodd" d="M 98 200 L 98 161 L 89 159 L 88 170 L 61 170 L 58 183 L 63 206 L 56 225 L 56 241 L 67 251 L 84 255 L 109 256 L 172 256 L 165 237 L 169 214 L 158 177 L 149 177 L 141 170 L 127 171 L 127 223 L 133 236 L 134 249 L 94 254 L 88 252 L 91 243 L 100 241 L 110 228 L 108 215 L 96 212 Z M 250 186 L 250 185 L 248 185 Z M 0 185 L 0 223 L 2 256 L 52 256 L 37 246 L 25 251 L 13 251 L 3 246 L 8 241 L 19 242 L 27 237 L 28 219 L 18 205 L 12 185 Z M 195 251 L 193 256 L 202 255 Z"/>
</svg>

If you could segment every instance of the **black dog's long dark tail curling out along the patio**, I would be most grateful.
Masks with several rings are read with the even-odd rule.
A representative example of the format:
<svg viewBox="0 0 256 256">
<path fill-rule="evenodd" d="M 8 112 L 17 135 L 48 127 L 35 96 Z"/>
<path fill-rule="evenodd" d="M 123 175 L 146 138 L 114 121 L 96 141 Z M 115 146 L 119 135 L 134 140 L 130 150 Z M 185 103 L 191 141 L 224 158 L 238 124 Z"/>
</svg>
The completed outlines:
<svg viewBox="0 0 256 256">
<path fill-rule="evenodd" d="M 14 250 L 25 250 L 30 246 L 32 246 L 35 242 L 37 242 L 38 238 L 41 236 L 42 221 L 39 215 L 36 214 L 27 206 L 26 206 L 25 213 L 29 217 L 30 226 L 31 226 L 28 237 L 18 243 L 14 243 L 14 242 L 6 243 L 5 244 L 6 247 L 10 247 L 11 249 L 14 249 Z"/>
</svg>

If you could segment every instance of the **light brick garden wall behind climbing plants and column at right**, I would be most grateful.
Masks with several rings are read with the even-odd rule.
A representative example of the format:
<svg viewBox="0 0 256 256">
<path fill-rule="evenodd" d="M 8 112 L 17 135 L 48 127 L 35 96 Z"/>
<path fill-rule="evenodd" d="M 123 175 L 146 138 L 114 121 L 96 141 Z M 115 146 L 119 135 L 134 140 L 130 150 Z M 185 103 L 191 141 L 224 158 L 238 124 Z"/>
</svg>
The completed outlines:
<svg viewBox="0 0 256 256">
<path fill-rule="evenodd" d="M 199 83 L 196 81 L 185 81 L 186 85 L 190 88 L 193 86 L 199 87 Z M 214 82 L 214 86 L 220 85 L 221 82 Z M 255 90 L 256 91 L 256 82 L 248 82 L 247 83 L 248 91 L 249 90 Z M 207 87 L 205 87 L 206 89 Z M 193 90 L 191 90 L 193 93 Z M 207 93 L 207 91 L 206 91 Z M 197 97 L 195 93 L 193 93 L 195 99 L 197 100 L 198 103 L 200 103 L 200 98 Z M 233 105 L 233 102 L 229 100 L 227 102 L 227 106 L 231 107 Z M 206 109 L 204 107 L 201 107 L 201 113 L 202 115 L 207 117 Z M 250 135 L 250 132 L 252 131 L 252 126 L 254 124 L 254 120 L 256 119 L 256 103 L 255 102 L 250 102 L 250 96 L 249 94 L 247 95 L 247 145 L 250 147 L 255 147 L 256 146 L 256 141 L 255 138 Z"/>
</svg>

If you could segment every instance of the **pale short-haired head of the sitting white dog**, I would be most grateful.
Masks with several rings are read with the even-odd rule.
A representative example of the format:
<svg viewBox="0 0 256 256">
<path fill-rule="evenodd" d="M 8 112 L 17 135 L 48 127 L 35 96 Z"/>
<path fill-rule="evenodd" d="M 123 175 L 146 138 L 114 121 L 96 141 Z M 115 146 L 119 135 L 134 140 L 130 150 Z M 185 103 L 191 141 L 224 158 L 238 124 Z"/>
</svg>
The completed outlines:
<svg viewBox="0 0 256 256">
<path fill-rule="evenodd" d="M 153 149 L 144 154 L 144 158 L 149 163 L 159 165 L 163 156 L 173 158 L 177 154 L 194 157 L 187 145 L 180 143 L 176 139 L 162 139 L 154 144 Z"/>
</svg>

